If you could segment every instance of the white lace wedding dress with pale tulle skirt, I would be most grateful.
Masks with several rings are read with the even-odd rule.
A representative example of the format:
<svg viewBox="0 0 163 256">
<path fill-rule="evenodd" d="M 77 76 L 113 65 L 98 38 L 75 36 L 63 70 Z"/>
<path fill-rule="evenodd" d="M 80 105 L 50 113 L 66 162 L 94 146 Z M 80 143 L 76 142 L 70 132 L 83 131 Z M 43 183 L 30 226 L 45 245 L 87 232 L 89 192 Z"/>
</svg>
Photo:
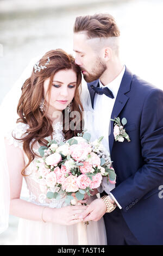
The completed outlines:
<svg viewBox="0 0 163 256">
<path fill-rule="evenodd" d="M 21 138 L 28 129 L 28 125 L 18 123 L 16 124 L 13 135 Z M 53 139 L 61 142 L 64 139 L 62 133 L 62 124 L 57 123 L 53 125 Z M 16 141 L 11 132 L 6 136 L 9 144 L 14 144 L 15 147 L 20 147 L 23 150 L 22 143 Z M 50 138 L 50 137 L 49 137 Z M 47 139 L 47 138 L 46 138 Z M 40 145 L 37 143 L 34 147 L 35 152 L 38 153 Z M 24 162 L 28 162 L 27 155 L 23 152 Z M 36 159 L 36 157 L 35 157 Z M 61 199 L 48 199 L 47 187 L 42 183 L 43 179 L 39 179 L 35 174 L 35 161 L 30 163 L 26 168 L 26 175 L 23 178 L 26 181 L 29 198 L 28 202 L 37 205 L 43 205 L 51 208 L 61 208 L 66 206 L 65 197 Z M 21 171 L 21 170 L 20 170 Z M 91 197 L 90 200 L 96 199 Z M 26 209 L 24 209 L 26 210 Z M 54 223 L 44 223 L 42 221 L 30 221 L 20 218 L 18 224 L 18 243 L 20 245 L 78 245 L 78 224 L 74 225 L 60 225 Z M 86 228 L 87 244 L 88 245 L 106 245 L 106 233 L 103 218 L 98 222 L 90 221 Z"/>
</svg>

